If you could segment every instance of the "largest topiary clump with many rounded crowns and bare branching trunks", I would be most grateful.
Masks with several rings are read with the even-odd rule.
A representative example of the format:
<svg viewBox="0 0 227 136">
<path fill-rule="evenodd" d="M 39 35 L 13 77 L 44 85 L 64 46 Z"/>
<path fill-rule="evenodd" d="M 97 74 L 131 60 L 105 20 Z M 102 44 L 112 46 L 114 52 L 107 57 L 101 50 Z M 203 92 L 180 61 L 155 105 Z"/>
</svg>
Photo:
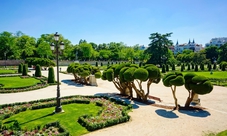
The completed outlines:
<svg viewBox="0 0 227 136">
<path fill-rule="evenodd" d="M 161 73 L 155 65 L 139 67 L 136 64 L 125 63 L 113 65 L 103 71 L 102 79 L 113 82 L 123 95 L 133 97 L 134 90 L 139 100 L 147 101 L 149 87 L 152 83 L 160 81 Z M 147 92 L 142 88 L 142 83 L 145 81 L 147 81 Z"/>
</svg>

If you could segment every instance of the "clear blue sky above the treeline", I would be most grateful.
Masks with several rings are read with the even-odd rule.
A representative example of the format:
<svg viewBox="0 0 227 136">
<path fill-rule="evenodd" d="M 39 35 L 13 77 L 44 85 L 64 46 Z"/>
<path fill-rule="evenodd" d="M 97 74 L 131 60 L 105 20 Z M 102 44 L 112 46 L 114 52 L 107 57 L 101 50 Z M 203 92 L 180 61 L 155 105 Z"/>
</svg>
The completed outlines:
<svg viewBox="0 0 227 136">
<path fill-rule="evenodd" d="M 1 0 L 0 32 L 39 38 L 59 32 L 77 44 L 148 45 L 151 33 L 176 43 L 227 37 L 227 0 Z"/>
</svg>

